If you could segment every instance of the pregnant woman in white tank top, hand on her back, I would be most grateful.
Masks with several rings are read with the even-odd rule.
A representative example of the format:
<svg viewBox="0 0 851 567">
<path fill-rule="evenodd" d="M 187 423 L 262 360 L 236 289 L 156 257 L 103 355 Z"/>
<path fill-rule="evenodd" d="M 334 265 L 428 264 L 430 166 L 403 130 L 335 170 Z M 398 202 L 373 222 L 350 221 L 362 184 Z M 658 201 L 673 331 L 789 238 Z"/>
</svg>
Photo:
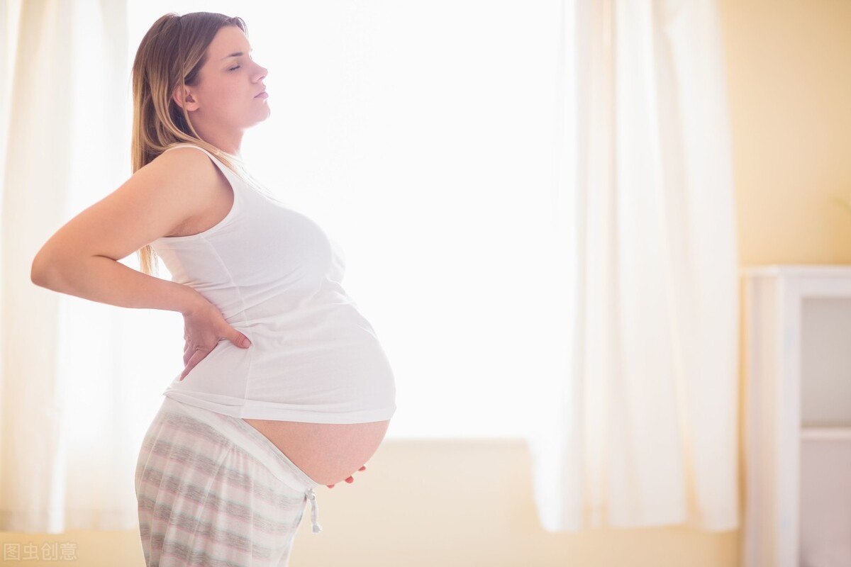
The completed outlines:
<svg viewBox="0 0 851 567">
<path fill-rule="evenodd" d="M 265 77 L 243 20 L 157 20 L 133 66 L 133 176 L 32 264 L 39 286 L 184 317 L 185 367 L 136 468 L 149 566 L 286 565 L 308 501 L 320 530 L 314 488 L 351 482 L 396 409 L 340 247 L 239 158 Z M 142 272 L 118 261 L 132 252 Z"/>
</svg>

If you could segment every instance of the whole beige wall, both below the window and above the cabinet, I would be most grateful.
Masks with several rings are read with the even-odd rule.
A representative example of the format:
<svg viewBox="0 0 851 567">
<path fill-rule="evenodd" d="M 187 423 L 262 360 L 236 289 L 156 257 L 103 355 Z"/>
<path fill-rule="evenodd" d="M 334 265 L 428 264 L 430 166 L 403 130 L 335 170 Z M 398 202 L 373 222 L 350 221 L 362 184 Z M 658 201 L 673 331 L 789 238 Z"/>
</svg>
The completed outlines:
<svg viewBox="0 0 851 567">
<path fill-rule="evenodd" d="M 722 0 L 741 263 L 851 262 L 851 3 Z M 323 534 L 302 524 L 292 564 L 734 567 L 739 534 L 682 527 L 546 534 L 517 441 L 389 441 L 355 485 L 322 490 Z M 73 541 L 77 564 L 141 567 L 138 536 Z M 62 562 L 21 562 L 45 567 Z"/>
</svg>

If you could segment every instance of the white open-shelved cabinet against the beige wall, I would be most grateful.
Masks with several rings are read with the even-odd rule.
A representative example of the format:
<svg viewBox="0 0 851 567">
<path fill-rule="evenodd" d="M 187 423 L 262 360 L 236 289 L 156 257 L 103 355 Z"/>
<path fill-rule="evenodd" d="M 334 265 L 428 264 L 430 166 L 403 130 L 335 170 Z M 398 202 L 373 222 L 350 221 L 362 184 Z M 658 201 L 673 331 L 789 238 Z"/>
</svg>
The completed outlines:
<svg viewBox="0 0 851 567">
<path fill-rule="evenodd" d="M 743 567 L 851 565 L 851 266 L 745 269 Z"/>
</svg>

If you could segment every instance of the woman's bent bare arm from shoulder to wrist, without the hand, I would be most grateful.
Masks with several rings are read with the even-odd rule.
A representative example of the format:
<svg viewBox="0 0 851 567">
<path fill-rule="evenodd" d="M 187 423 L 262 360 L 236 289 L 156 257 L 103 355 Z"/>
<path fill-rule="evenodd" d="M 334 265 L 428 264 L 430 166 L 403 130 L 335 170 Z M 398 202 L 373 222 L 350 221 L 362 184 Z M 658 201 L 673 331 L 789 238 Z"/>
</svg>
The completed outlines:
<svg viewBox="0 0 851 567">
<path fill-rule="evenodd" d="M 117 260 L 171 234 L 203 210 L 217 175 L 218 169 L 198 150 L 164 153 L 57 230 L 33 259 L 31 281 L 119 307 L 185 315 L 200 309 L 206 299 L 191 287 L 143 274 Z"/>
</svg>

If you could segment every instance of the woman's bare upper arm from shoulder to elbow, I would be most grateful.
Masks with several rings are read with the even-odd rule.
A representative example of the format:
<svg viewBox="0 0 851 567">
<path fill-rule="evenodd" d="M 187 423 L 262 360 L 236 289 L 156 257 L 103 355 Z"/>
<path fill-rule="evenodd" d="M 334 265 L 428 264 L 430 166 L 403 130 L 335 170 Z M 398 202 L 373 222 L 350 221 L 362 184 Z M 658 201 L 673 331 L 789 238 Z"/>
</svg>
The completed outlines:
<svg viewBox="0 0 851 567">
<path fill-rule="evenodd" d="M 39 255 L 55 264 L 83 256 L 126 258 L 207 210 L 222 179 L 203 150 L 183 146 L 165 151 L 71 218 Z"/>
</svg>

